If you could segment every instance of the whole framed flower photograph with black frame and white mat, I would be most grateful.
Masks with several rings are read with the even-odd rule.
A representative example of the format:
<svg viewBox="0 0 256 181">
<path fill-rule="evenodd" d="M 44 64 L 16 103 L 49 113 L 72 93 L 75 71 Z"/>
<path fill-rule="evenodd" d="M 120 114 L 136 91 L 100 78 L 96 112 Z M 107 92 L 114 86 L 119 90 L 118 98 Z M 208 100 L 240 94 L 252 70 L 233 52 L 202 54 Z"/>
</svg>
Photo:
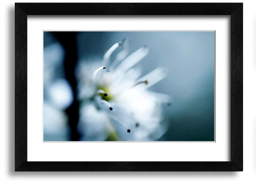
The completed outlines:
<svg viewBox="0 0 256 181">
<path fill-rule="evenodd" d="M 242 171 L 242 35 L 242 3 L 15 3 L 15 171 Z"/>
</svg>

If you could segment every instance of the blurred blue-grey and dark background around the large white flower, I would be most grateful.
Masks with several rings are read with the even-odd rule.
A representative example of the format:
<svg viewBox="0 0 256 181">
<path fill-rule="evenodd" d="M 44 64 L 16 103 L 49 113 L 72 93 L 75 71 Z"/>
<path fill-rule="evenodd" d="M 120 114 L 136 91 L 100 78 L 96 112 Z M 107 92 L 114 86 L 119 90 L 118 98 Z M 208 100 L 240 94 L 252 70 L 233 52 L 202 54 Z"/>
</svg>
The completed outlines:
<svg viewBox="0 0 256 181">
<path fill-rule="evenodd" d="M 213 31 L 45 31 L 43 36 L 44 141 L 80 141 L 77 63 L 102 59 L 123 38 L 129 40 L 129 54 L 149 47 L 138 63 L 142 75 L 158 67 L 167 70 L 149 88 L 172 97 L 171 106 L 162 108 L 166 131 L 156 141 L 214 141 Z"/>
</svg>

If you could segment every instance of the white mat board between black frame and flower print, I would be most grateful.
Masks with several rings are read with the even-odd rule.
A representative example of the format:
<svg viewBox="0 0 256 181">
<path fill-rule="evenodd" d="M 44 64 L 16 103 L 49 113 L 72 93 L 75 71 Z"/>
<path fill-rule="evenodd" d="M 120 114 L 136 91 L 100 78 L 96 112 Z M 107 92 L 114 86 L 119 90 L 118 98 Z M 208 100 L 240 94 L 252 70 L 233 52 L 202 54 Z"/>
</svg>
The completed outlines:
<svg viewBox="0 0 256 181">
<path fill-rule="evenodd" d="M 230 17 L 49 17 L 27 22 L 28 161 L 230 161 Z M 42 30 L 216 30 L 216 142 L 42 142 Z M 35 61 L 37 60 L 37 61 Z M 36 121 L 35 121 L 35 118 Z M 85 151 L 86 150 L 86 151 Z M 104 150 L 104 151 L 103 151 Z M 189 152 L 188 152 L 189 150 Z M 75 152 L 76 154 L 69 154 Z M 161 154 L 158 154 L 161 153 Z"/>
</svg>

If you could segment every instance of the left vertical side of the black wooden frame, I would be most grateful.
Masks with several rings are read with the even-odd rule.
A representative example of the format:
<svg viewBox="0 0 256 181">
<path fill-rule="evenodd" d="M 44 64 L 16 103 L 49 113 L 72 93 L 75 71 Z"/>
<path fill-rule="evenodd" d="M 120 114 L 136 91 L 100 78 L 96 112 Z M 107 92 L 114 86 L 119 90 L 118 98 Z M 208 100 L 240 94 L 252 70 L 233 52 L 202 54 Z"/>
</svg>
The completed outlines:
<svg viewBox="0 0 256 181">
<path fill-rule="evenodd" d="M 27 161 L 27 15 L 15 5 L 15 170 Z"/>
</svg>

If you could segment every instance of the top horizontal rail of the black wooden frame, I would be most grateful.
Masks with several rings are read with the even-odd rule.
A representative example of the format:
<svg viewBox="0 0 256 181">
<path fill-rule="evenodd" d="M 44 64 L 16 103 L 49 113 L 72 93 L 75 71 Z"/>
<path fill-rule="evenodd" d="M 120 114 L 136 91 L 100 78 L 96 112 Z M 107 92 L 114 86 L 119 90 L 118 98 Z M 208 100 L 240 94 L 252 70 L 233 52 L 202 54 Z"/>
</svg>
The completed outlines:
<svg viewBox="0 0 256 181">
<path fill-rule="evenodd" d="M 27 15 L 230 15 L 239 7 L 239 3 L 16 4 L 19 5 Z"/>
</svg>

